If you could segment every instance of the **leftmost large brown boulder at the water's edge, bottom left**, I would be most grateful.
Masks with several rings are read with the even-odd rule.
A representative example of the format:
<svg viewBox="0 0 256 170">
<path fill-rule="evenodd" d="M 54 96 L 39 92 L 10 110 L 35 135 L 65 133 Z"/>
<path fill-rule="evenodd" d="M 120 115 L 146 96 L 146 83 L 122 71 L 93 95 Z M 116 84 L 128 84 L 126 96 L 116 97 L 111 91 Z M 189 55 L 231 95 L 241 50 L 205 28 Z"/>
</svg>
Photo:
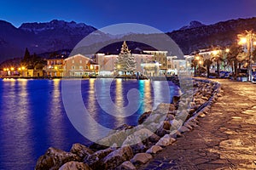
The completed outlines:
<svg viewBox="0 0 256 170">
<path fill-rule="evenodd" d="M 68 161 L 81 161 L 81 158 L 73 153 L 50 147 L 44 156 L 38 158 L 35 169 L 57 169 Z"/>
</svg>

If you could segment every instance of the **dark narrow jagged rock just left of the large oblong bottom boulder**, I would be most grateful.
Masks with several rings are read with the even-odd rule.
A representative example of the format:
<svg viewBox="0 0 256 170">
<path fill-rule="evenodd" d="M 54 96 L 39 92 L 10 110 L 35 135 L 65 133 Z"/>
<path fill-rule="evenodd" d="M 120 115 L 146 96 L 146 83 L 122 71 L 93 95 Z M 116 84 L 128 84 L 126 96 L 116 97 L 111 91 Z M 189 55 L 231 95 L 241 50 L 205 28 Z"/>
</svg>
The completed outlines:
<svg viewBox="0 0 256 170">
<path fill-rule="evenodd" d="M 102 167 L 102 160 L 104 157 L 108 156 L 115 148 L 109 147 L 105 150 L 98 150 L 94 154 L 84 157 L 84 163 L 89 165 L 93 169 L 99 169 Z"/>
</svg>

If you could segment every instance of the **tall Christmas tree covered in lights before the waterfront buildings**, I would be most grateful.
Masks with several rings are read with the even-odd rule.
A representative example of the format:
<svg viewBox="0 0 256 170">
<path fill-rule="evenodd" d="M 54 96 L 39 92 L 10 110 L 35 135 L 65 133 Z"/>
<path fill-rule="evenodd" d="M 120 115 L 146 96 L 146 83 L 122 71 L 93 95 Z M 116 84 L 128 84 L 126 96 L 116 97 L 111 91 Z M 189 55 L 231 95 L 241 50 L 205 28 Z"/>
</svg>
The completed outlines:
<svg viewBox="0 0 256 170">
<path fill-rule="evenodd" d="M 134 59 L 134 56 L 131 54 L 131 50 L 129 50 L 126 42 L 124 42 L 119 57 L 115 62 L 115 71 L 122 71 L 122 73 L 125 73 L 126 75 L 127 72 L 130 72 L 132 74 L 135 70 L 136 60 Z"/>
</svg>

